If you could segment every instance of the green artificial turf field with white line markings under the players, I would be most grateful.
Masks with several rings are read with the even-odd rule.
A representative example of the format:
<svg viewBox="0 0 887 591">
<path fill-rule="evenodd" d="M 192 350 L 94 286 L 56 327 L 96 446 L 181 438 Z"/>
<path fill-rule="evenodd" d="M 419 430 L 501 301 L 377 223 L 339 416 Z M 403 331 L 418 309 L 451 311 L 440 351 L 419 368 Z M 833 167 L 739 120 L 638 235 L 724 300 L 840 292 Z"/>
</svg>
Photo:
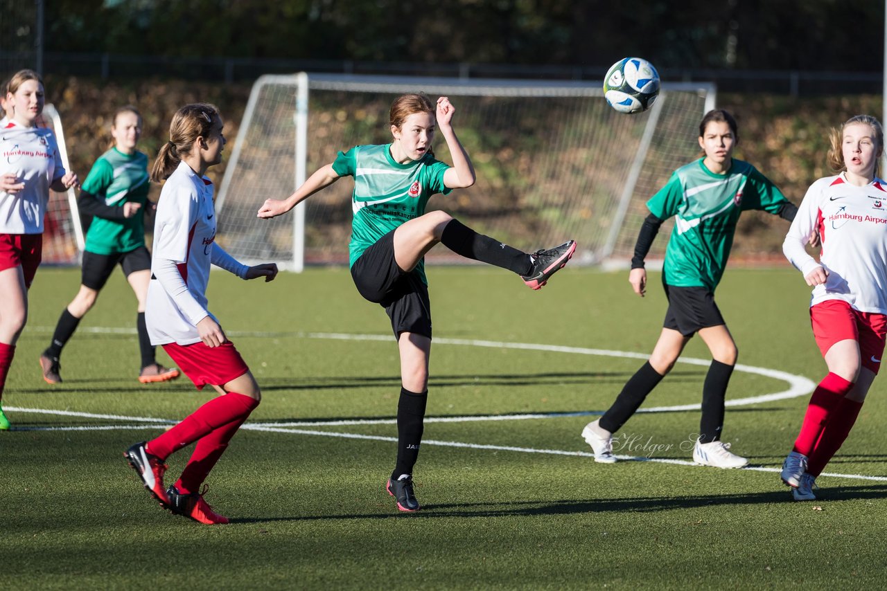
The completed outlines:
<svg viewBox="0 0 887 591">
<path fill-rule="evenodd" d="M 120 275 L 67 346 L 64 384 L 44 384 L 36 359 L 80 276 L 41 269 L 4 393 L 14 430 L 0 433 L 0 588 L 883 585 L 881 382 L 816 502 L 792 502 L 777 473 L 805 393 L 727 409 L 724 439 L 750 469 L 690 463 L 682 443 L 698 410 L 634 416 L 616 453 L 637 459 L 601 465 L 579 437 L 593 417 L 574 413 L 607 408 L 640 365 L 604 351 L 649 353 L 665 309 L 659 276 L 639 299 L 622 272 L 567 268 L 541 292 L 498 269 L 428 275 L 428 417 L 473 420 L 428 421 L 423 509 L 407 515 L 383 490 L 399 393 L 384 311 L 342 268 L 271 284 L 214 274 L 210 309 L 263 402 L 210 475 L 209 502 L 232 517 L 212 527 L 159 509 L 122 457 L 212 394 L 184 377 L 137 383 L 135 298 Z M 819 381 L 808 294 L 792 269 L 727 271 L 718 303 L 740 363 Z M 696 338 L 685 357 L 708 352 Z M 705 369 L 679 363 L 645 406 L 698 403 Z M 728 399 L 791 387 L 736 371 Z M 525 414 L 544 416 L 493 420 Z M 170 458 L 168 482 L 187 453 Z"/>
</svg>

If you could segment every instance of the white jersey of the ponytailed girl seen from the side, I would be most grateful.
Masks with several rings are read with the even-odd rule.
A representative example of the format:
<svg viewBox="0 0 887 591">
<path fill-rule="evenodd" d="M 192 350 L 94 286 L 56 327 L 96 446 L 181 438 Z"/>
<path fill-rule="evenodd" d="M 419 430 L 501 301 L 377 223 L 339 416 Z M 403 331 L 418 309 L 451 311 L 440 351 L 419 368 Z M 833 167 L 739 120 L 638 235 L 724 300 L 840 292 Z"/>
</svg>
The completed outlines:
<svg viewBox="0 0 887 591">
<path fill-rule="evenodd" d="M 206 293 L 215 240 L 213 184 L 181 162 L 163 185 L 154 218 L 153 280 L 145 301 L 145 324 L 152 345 L 200 341 L 196 324 L 211 315 Z M 177 265 L 186 292 L 171 294 L 161 281 L 163 266 L 169 261 Z"/>
</svg>

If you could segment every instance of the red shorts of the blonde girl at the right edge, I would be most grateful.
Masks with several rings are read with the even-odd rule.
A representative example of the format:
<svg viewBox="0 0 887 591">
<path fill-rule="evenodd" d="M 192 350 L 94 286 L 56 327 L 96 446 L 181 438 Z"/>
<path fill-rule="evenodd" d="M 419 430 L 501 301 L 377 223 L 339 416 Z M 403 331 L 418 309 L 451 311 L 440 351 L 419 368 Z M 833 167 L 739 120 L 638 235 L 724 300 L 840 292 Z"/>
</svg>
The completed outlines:
<svg viewBox="0 0 887 591">
<path fill-rule="evenodd" d="M 887 335 L 887 315 L 854 310 L 843 299 L 828 299 L 810 308 L 813 338 L 824 357 L 836 342 L 852 338 L 860 344 L 862 367 L 878 372 Z"/>
</svg>

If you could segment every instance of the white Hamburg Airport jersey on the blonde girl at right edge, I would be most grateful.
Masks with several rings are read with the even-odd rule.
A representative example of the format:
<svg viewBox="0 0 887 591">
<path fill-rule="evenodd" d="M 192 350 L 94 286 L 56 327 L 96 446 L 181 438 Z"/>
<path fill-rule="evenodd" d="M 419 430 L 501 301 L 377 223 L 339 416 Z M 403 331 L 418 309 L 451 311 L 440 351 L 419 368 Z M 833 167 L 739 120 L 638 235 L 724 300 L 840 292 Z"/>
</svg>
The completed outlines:
<svg viewBox="0 0 887 591">
<path fill-rule="evenodd" d="M 822 253 L 817 262 L 805 251 L 817 229 Z M 782 252 L 806 276 L 817 265 L 828 271 L 813 288 L 811 306 L 843 299 L 860 312 L 887 314 L 887 189 L 875 181 L 858 187 L 844 173 L 810 185 Z"/>
</svg>

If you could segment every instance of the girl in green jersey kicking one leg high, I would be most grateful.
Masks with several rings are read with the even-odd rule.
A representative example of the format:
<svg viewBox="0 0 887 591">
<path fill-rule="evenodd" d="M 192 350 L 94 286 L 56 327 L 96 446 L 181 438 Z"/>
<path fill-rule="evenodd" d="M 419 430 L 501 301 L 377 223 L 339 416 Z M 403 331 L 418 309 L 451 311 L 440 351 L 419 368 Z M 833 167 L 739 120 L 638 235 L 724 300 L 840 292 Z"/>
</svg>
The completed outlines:
<svg viewBox="0 0 887 591">
<path fill-rule="evenodd" d="M 400 352 L 397 460 L 385 487 L 402 511 L 419 509 L 412 468 L 422 439 L 431 353 L 425 254 L 442 243 L 469 259 L 510 269 L 538 290 L 576 250 L 570 240 L 530 255 L 477 234 L 442 211 L 425 213 L 435 193 L 445 195 L 475 183 L 475 169 L 451 125 L 455 110 L 447 97 L 438 98 L 436 105 L 424 94 L 397 97 L 389 113 L 391 144 L 339 152 L 287 199 L 268 199 L 258 212 L 265 219 L 285 214 L 341 176 L 354 177 L 351 276 L 365 299 L 385 307 Z M 450 149 L 452 167 L 431 152 L 437 128 Z"/>
</svg>

